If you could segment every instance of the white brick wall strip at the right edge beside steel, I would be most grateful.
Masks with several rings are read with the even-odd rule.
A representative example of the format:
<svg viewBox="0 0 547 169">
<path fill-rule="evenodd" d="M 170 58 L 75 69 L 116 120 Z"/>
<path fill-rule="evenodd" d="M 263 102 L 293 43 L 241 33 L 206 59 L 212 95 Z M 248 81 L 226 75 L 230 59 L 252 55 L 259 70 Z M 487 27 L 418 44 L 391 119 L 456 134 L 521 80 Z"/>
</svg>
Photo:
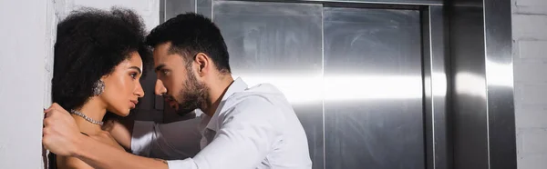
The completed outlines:
<svg viewBox="0 0 547 169">
<path fill-rule="evenodd" d="M 519 169 L 547 168 L 547 1 L 512 0 Z"/>
</svg>

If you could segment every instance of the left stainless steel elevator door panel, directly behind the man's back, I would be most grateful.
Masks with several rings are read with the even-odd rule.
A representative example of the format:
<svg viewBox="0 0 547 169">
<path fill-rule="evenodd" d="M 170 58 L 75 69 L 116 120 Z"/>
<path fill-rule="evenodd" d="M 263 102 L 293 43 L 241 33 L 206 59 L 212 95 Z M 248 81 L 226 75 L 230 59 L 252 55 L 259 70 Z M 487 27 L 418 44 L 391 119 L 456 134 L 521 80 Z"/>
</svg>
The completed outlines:
<svg viewBox="0 0 547 169">
<path fill-rule="evenodd" d="M 322 5 L 213 1 L 232 74 L 284 92 L 304 125 L 313 168 L 323 166 Z"/>
</svg>

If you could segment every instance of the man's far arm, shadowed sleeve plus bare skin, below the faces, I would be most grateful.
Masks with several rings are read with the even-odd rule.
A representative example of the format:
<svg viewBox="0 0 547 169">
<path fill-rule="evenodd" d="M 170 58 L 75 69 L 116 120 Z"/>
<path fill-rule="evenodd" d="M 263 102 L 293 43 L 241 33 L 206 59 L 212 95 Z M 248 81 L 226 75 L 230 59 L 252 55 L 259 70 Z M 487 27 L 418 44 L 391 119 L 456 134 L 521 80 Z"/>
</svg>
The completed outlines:
<svg viewBox="0 0 547 169">
<path fill-rule="evenodd" d="M 200 122 L 201 118 L 192 113 L 186 114 L 185 120 L 170 124 L 129 118 L 109 119 L 103 128 L 132 154 L 183 159 L 193 157 L 201 150 Z"/>
</svg>

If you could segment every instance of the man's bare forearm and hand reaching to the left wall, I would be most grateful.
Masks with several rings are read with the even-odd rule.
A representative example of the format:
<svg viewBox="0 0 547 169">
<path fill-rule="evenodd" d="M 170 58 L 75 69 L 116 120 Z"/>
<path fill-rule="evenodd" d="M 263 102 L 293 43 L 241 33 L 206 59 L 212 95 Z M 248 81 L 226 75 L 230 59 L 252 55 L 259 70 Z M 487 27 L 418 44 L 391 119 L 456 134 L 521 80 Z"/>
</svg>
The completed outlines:
<svg viewBox="0 0 547 169">
<path fill-rule="evenodd" d="M 74 118 L 58 104 L 46 111 L 42 144 L 62 156 L 74 156 L 95 168 L 168 168 L 165 161 L 129 154 L 80 134 Z"/>
</svg>

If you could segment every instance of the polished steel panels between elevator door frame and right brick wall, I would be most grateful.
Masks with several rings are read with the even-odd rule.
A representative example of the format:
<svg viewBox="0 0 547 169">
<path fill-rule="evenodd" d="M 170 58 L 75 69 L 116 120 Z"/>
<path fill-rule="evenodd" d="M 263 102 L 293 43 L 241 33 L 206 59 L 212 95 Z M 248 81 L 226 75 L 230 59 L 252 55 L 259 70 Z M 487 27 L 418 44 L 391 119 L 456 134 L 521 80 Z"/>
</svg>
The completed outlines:
<svg viewBox="0 0 547 169">
<path fill-rule="evenodd" d="M 511 2 L 455 0 L 449 7 L 454 164 L 516 168 Z"/>
</svg>

